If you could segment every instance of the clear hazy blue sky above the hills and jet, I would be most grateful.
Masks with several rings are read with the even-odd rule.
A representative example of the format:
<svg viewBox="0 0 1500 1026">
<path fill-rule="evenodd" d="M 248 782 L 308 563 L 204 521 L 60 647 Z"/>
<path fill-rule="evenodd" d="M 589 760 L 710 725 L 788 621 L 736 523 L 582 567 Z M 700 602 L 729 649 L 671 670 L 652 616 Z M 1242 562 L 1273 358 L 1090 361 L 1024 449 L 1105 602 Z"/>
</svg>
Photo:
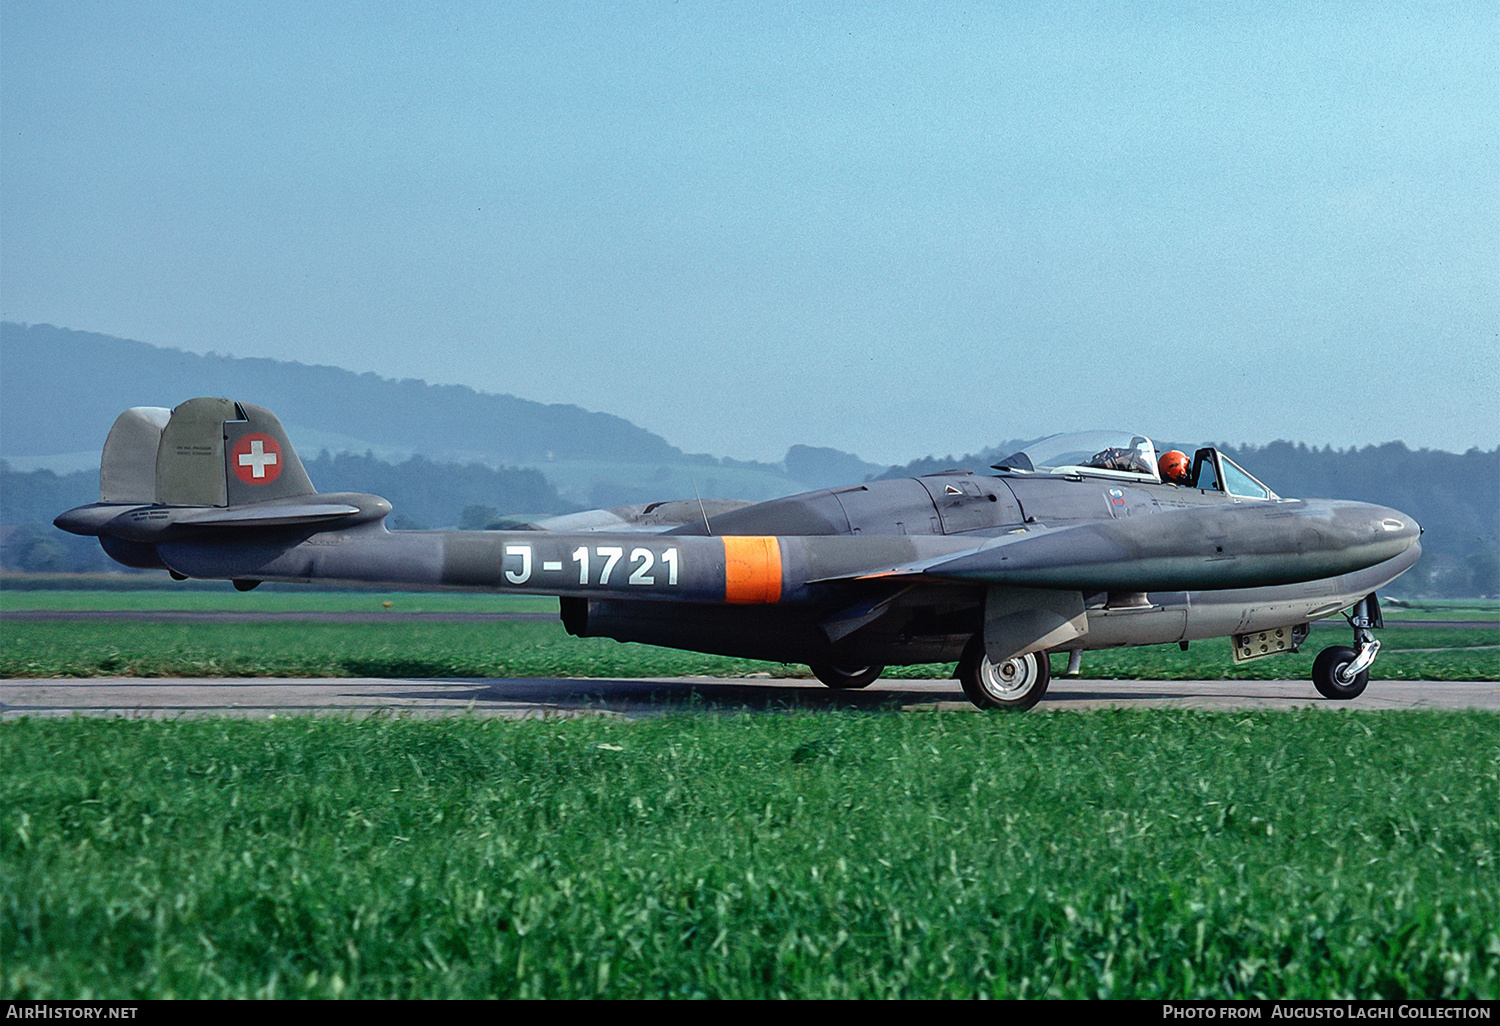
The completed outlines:
<svg viewBox="0 0 1500 1026">
<path fill-rule="evenodd" d="M 1500 444 L 1492 0 L 3 0 L 0 129 L 12 321 L 736 458 Z"/>
</svg>

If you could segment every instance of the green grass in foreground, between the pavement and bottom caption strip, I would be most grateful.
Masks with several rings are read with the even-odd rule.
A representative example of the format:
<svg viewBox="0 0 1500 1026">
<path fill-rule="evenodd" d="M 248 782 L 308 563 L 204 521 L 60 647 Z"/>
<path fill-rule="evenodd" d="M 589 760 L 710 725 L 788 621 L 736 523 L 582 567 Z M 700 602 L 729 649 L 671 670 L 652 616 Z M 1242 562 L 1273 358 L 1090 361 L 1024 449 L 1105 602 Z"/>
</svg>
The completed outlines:
<svg viewBox="0 0 1500 1026">
<path fill-rule="evenodd" d="M 1474 712 L 0 724 L 0 996 L 1500 996 Z"/>
</svg>

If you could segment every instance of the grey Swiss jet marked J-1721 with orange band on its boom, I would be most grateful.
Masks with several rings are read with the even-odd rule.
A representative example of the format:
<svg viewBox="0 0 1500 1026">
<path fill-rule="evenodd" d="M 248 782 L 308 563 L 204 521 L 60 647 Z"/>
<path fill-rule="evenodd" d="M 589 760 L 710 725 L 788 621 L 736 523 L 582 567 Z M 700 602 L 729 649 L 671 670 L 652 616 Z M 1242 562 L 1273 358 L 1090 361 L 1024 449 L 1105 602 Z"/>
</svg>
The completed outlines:
<svg viewBox="0 0 1500 1026">
<path fill-rule="evenodd" d="M 564 627 L 807 663 L 828 687 L 954 662 L 986 710 L 1047 692 L 1050 652 L 1230 638 L 1234 660 L 1296 651 L 1344 612 L 1312 684 L 1365 690 L 1377 590 L 1420 526 L 1365 502 L 1288 500 L 1215 448 L 1128 432 L 1056 435 L 993 476 L 928 474 L 766 502 L 657 502 L 516 531 L 390 531 L 376 495 L 320 494 L 261 406 L 190 399 L 120 414 L 99 502 L 56 524 L 172 578 L 381 584 L 556 596 Z"/>
</svg>

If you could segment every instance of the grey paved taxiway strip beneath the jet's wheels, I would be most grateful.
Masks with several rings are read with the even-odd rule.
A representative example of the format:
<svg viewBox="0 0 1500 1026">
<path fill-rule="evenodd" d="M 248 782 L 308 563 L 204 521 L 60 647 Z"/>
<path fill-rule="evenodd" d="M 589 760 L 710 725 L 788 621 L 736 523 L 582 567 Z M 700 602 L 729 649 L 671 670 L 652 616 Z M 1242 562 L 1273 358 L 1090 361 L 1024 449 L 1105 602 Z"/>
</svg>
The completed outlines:
<svg viewBox="0 0 1500 1026">
<path fill-rule="evenodd" d="M 980 714 L 957 681 L 878 681 L 832 692 L 812 680 L 375 680 L 93 678 L 0 681 L 0 720 L 22 716 L 660 716 L 681 711 L 945 708 Z M 1500 682 L 1371 681 L 1353 702 L 1329 702 L 1308 681 L 1053 680 L 1040 710 L 1490 710 Z"/>
</svg>

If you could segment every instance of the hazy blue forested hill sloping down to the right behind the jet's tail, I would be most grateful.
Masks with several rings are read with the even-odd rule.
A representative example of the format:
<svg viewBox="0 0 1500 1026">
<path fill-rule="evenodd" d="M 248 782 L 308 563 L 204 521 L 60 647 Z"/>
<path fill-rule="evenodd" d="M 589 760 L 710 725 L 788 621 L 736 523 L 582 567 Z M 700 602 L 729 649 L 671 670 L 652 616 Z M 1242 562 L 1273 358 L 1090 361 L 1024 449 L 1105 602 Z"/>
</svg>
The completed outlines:
<svg viewBox="0 0 1500 1026">
<path fill-rule="evenodd" d="M 267 406 L 288 426 L 356 442 L 346 446 L 354 452 L 370 447 L 492 465 L 682 458 L 628 420 L 579 406 L 339 368 L 196 356 L 50 324 L 0 324 L 3 456 L 98 453 L 122 410 L 176 406 L 194 396 Z"/>
</svg>

